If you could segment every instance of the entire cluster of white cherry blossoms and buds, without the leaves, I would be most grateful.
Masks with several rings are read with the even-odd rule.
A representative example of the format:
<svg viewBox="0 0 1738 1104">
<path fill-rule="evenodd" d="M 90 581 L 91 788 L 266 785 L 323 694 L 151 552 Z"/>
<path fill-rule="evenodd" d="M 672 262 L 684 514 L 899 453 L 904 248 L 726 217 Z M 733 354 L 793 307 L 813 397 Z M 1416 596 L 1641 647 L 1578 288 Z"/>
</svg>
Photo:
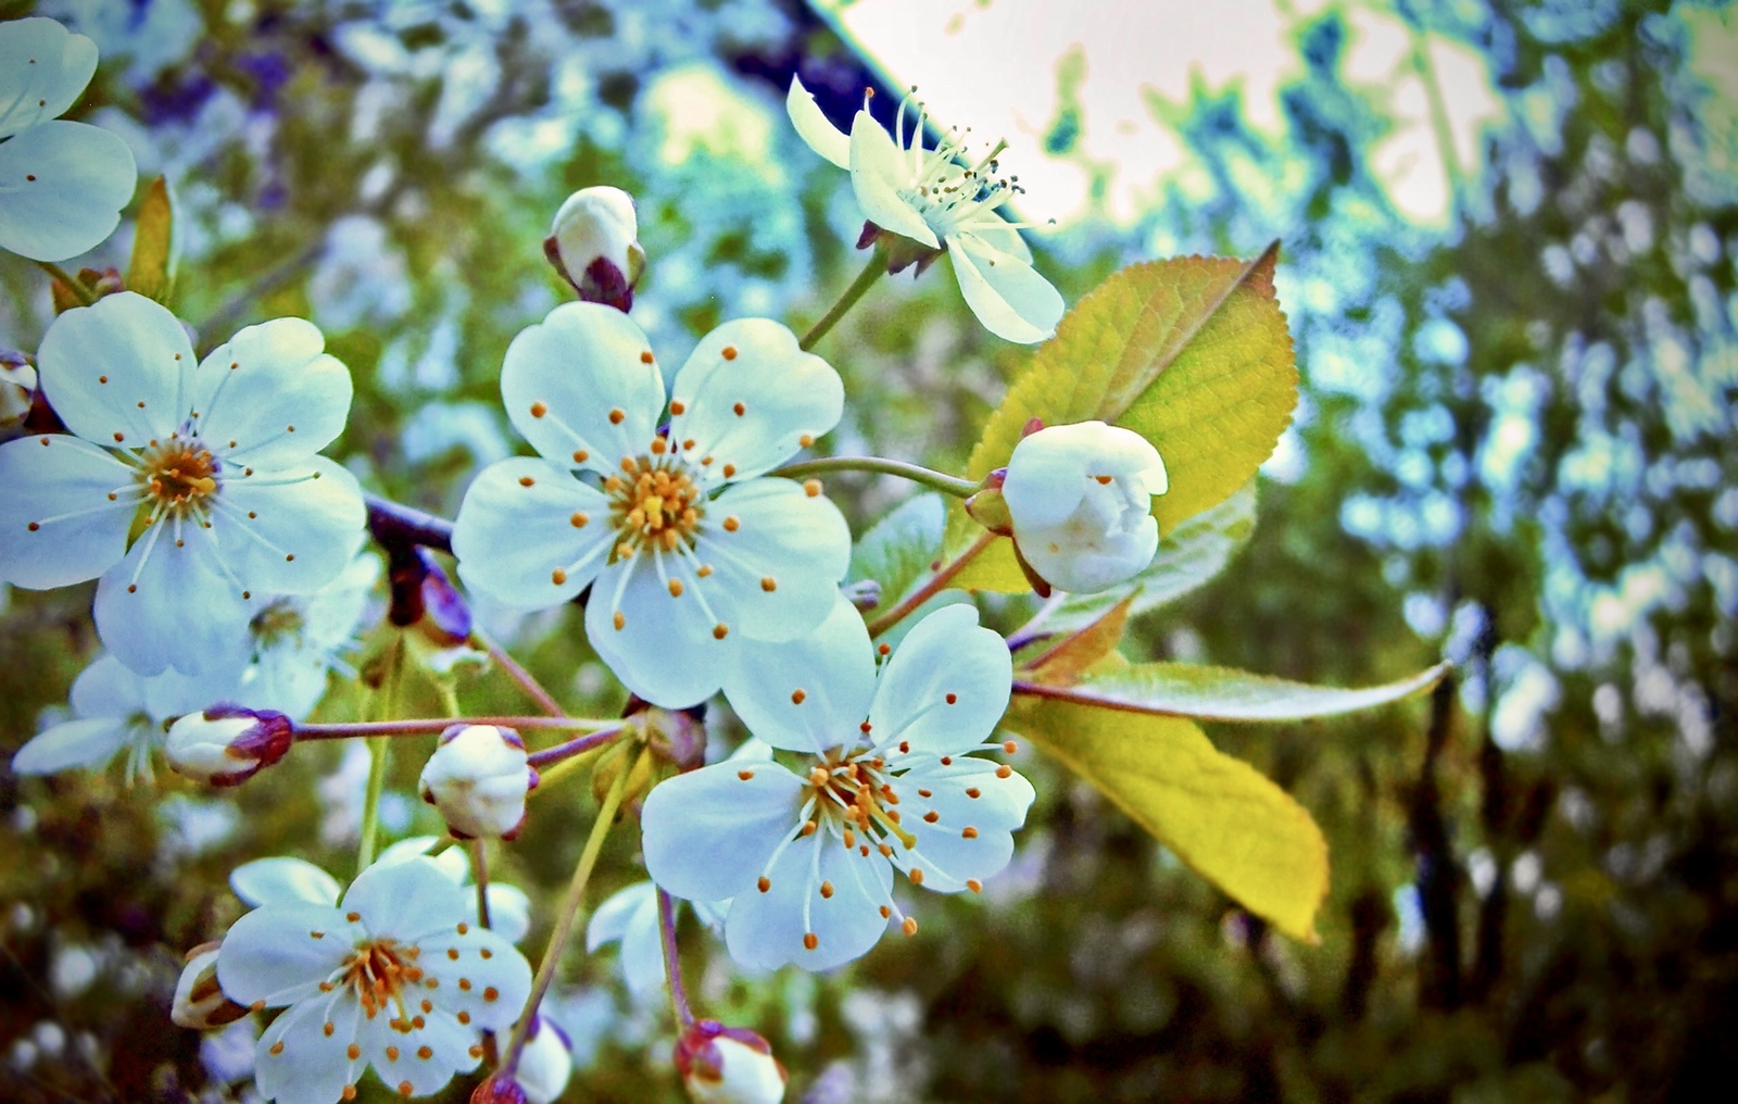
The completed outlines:
<svg viewBox="0 0 1738 1104">
<path fill-rule="evenodd" d="M 96 50 L 24 19 L 0 24 L 0 179 L 23 172 L 35 186 L 0 195 L 0 247 L 43 261 L 90 249 L 132 191 L 116 137 L 54 120 Z M 1015 191 L 996 151 L 968 165 L 952 132 L 925 148 L 921 104 L 904 132 L 912 104 L 893 136 L 867 110 L 846 136 L 799 82 L 787 99 L 798 134 L 850 170 L 869 219 L 862 243 L 885 250 L 888 271 L 947 254 L 985 329 L 1048 337 L 1062 297 L 1020 226 L 996 212 Z M 534 456 L 483 468 L 450 527 L 473 596 L 584 607 L 584 638 L 631 694 L 631 715 L 541 749 L 520 730 L 528 722 L 457 720 L 417 789 L 481 862 L 485 843 L 527 826 L 542 767 L 643 744 L 633 768 L 626 755 L 598 760 L 598 791 L 612 796 L 594 831 L 631 801 L 650 881 L 596 911 L 591 949 L 619 941 L 633 988 L 680 993 L 674 916 L 687 901 L 740 967 L 833 970 L 890 927 L 918 932 L 900 880 L 978 894 L 1010 862 L 1036 796 L 994 758 L 1017 751 L 998 739 L 1010 643 L 970 603 L 893 609 L 888 595 L 885 617 L 866 622 L 841 589 L 852 530 L 813 475 L 824 459 L 799 459 L 841 422 L 839 372 L 810 351 L 815 334 L 798 339 L 770 318 L 723 322 L 666 372 L 629 316 L 647 264 L 636 238 L 633 200 L 614 188 L 582 190 L 556 212 L 546 254 L 579 301 L 523 329 L 499 376 Z M 66 309 L 40 341 L 35 398 L 56 421 L 0 443 L 0 581 L 96 581 L 104 652 L 73 685 L 71 716 L 17 751 L 19 774 L 120 755 L 129 779 L 148 779 L 162 748 L 179 774 L 236 786 L 302 739 L 441 728 L 386 732 L 400 720 L 388 718 L 334 734 L 344 725 L 308 722 L 356 633 L 379 619 L 370 506 L 351 468 L 323 456 L 344 436 L 348 369 L 301 318 L 198 355 L 202 344 L 167 306 L 123 289 Z M 1158 542 L 1158 452 L 1102 422 L 1032 429 L 982 485 L 1006 506 L 992 532 L 1013 539 L 1045 593 L 1128 581 Z M 469 612 L 428 549 L 374 537 L 389 621 L 426 617 L 440 647 L 466 647 Z M 916 617 L 919 607 L 932 612 Z M 718 694 L 749 739 L 704 765 L 693 725 Z M 348 888 L 299 859 L 240 868 L 249 911 L 189 956 L 176 1021 L 271 1014 L 255 1083 L 280 1104 L 353 1099 L 370 1071 L 400 1095 L 429 1095 L 485 1057 L 488 1099 L 558 1095 L 567 1047 L 539 1017 L 547 974 L 534 982 L 514 948 L 523 895 L 497 902 L 506 887 L 464 885 L 462 869 L 422 854 L 429 840 L 375 857 L 374 831 L 365 817 Z M 546 972 L 560 951 L 546 951 Z M 714 1021 L 687 1019 L 676 1064 L 697 1099 L 784 1092 L 765 1041 Z"/>
</svg>

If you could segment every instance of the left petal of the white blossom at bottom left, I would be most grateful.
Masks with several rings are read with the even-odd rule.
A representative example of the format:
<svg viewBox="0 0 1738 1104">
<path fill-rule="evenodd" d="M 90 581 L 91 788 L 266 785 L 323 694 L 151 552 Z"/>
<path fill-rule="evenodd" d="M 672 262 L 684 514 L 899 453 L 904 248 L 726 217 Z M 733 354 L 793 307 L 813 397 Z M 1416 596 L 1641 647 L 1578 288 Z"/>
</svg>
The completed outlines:
<svg viewBox="0 0 1738 1104">
<path fill-rule="evenodd" d="M 320 937 L 315 937 L 320 932 Z M 217 951 L 217 984 L 238 1005 L 268 1008 L 320 993 L 355 951 L 358 928 L 332 906 L 283 902 L 236 920 Z"/>
</svg>

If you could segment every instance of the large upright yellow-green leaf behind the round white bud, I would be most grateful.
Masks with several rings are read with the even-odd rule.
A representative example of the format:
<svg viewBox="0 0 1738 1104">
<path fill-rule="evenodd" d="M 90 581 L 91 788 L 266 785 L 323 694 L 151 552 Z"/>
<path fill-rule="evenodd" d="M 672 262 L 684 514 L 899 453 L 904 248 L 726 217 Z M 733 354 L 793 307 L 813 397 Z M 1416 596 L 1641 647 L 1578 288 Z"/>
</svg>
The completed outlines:
<svg viewBox="0 0 1738 1104">
<path fill-rule="evenodd" d="M 1008 462 L 1027 421 L 1102 419 L 1145 436 L 1164 457 L 1170 492 L 1154 499 L 1159 532 L 1248 483 L 1291 422 L 1297 362 L 1274 297 L 1277 242 L 1253 263 L 1178 257 L 1133 264 L 1100 283 L 1038 346 L 972 450 L 966 476 Z M 973 539 L 952 509 L 947 551 Z M 961 586 L 1018 593 L 1025 577 L 1005 544 L 978 556 Z"/>
</svg>

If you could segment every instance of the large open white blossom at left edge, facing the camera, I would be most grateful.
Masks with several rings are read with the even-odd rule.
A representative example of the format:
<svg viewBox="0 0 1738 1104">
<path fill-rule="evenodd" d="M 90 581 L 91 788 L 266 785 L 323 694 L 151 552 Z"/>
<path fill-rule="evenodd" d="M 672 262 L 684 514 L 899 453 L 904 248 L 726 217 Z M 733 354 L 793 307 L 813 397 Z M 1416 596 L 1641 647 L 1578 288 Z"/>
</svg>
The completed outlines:
<svg viewBox="0 0 1738 1104">
<path fill-rule="evenodd" d="M 351 395 L 323 344 L 278 318 L 195 362 L 144 296 L 61 315 L 36 370 L 71 433 L 0 445 L 0 579 L 101 577 L 97 633 L 141 675 L 233 668 L 268 598 L 325 586 L 363 535 L 355 476 L 316 456 Z"/>
</svg>

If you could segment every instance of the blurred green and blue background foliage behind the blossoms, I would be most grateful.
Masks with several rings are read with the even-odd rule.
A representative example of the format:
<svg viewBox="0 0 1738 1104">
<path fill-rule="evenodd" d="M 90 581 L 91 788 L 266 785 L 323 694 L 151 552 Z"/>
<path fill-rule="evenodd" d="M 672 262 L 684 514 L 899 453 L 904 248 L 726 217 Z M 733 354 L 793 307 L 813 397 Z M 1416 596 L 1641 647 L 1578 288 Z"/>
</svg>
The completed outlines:
<svg viewBox="0 0 1738 1104">
<path fill-rule="evenodd" d="M 1133 223 L 1034 235 L 1069 301 L 1130 261 L 1284 242 L 1305 382 L 1258 527 L 1126 647 L 1337 685 L 1437 655 L 1456 675 L 1376 715 L 1211 732 L 1323 824 L 1319 946 L 1269 934 L 1029 755 L 1039 803 L 1013 868 L 982 901 L 923 901 L 918 939 L 833 977 L 746 979 L 685 930 L 704 1012 L 765 1033 L 793 1101 L 1663 1101 L 1722 1083 L 1738 1036 L 1733 17 L 1383 5 L 1415 45 L 1476 52 L 1502 106 L 1476 156 L 1434 134 L 1449 200 L 1420 219 L 1382 163 L 1394 97 L 1345 71 L 1363 9 L 1281 7 L 1300 64 L 1279 137 L 1236 87 L 1197 83 L 1152 106 L 1185 179 Z M 356 381 L 334 456 L 445 516 L 521 449 L 495 374 L 565 297 L 539 243 L 574 188 L 638 196 L 634 318 L 666 365 L 726 318 L 817 318 L 857 264 L 845 177 L 780 103 L 801 71 L 843 120 L 878 76 L 796 0 L 0 3 L 31 10 L 103 49 L 75 116 L 127 136 L 141 181 L 170 179 L 172 304 L 200 348 L 313 318 Z M 1413 52 L 1425 76 L 1429 57 Z M 1001 78 L 1065 92 L 1071 71 Z M 1064 113 L 1048 148 L 1065 155 L 1079 127 Z M 129 235 L 87 263 L 125 268 Z M 0 346 L 33 349 L 50 318 L 43 276 L 0 257 Z M 876 287 L 819 351 L 852 396 L 822 447 L 954 469 L 1024 362 L 945 273 Z M 829 492 L 859 530 L 907 494 Z M 87 609 L 78 588 L 5 596 L 7 749 L 64 709 L 96 647 Z M 568 708 L 620 704 L 577 610 L 481 612 Z M 1018 600 L 994 612 L 1015 624 Z M 401 711 L 438 711 L 441 678 L 471 711 L 528 708 L 461 664 L 412 680 Z M 358 692 L 334 685 L 322 715 L 356 716 Z M 424 751 L 395 755 L 395 835 L 438 829 L 408 796 Z M 249 1038 L 169 1026 L 179 956 L 240 909 L 240 861 L 299 854 L 348 876 L 363 772 L 356 749 L 308 748 L 217 795 L 0 774 L 0 1095 L 245 1099 Z M 546 788 L 494 873 L 558 892 L 593 808 L 574 779 Z M 614 835 L 600 890 L 641 876 L 634 843 Z M 546 930 L 541 914 L 534 954 Z M 565 1099 L 680 1097 L 662 1005 L 627 996 L 614 953 L 574 951 L 553 1014 L 575 1040 Z"/>
</svg>

